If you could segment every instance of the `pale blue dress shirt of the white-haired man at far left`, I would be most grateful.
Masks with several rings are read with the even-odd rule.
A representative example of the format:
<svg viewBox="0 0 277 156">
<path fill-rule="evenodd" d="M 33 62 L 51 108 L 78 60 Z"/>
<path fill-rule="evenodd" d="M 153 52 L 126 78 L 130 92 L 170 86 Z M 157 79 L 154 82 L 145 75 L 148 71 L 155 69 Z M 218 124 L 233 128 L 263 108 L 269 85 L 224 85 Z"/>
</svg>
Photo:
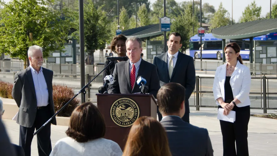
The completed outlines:
<svg viewBox="0 0 277 156">
<path fill-rule="evenodd" d="M 47 106 L 49 104 L 49 94 L 42 67 L 40 67 L 39 73 L 32 66 L 30 66 L 30 68 L 36 90 L 37 106 Z"/>
</svg>

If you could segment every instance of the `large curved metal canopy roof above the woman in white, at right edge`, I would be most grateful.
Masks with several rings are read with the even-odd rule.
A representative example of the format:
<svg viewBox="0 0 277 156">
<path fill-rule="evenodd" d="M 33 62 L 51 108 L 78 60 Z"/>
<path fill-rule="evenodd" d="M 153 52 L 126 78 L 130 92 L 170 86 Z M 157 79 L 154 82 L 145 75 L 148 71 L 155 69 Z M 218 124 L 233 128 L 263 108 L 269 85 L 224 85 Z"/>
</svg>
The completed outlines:
<svg viewBox="0 0 277 156">
<path fill-rule="evenodd" d="M 212 29 L 219 39 L 247 39 L 277 32 L 277 18 L 254 20 Z"/>
</svg>

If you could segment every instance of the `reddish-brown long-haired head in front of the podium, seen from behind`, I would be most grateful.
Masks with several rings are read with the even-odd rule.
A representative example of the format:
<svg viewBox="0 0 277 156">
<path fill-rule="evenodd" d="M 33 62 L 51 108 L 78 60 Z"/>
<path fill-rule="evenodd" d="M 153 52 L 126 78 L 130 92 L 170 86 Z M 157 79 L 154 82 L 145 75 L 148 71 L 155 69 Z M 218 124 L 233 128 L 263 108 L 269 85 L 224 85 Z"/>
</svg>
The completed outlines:
<svg viewBox="0 0 277 156">
<path fill-rule="evenodd" d="M 123 156 L 171 156 L 167 134 L 152 117 L 140 117 L 132 125 Z"/>
</svg>

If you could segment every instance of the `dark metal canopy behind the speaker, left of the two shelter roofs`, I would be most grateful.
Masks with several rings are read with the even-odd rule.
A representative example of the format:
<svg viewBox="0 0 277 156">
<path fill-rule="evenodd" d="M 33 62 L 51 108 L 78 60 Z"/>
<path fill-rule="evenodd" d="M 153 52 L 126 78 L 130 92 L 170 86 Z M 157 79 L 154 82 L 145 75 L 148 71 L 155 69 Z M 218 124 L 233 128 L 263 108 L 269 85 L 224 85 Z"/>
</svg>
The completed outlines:
<svg viewBox="0 0 277 156">
<path fill-rule="evenodd" d="M 163 32 L 160 31 L 160 24 L 151 24 L 144 27 L 137 27 L 134 29 L 125 30 L 121 34 L 126 37 L 136 36 L 139 37 L 141 40 L 146 40 L 162 36 Z"/>
</svg>

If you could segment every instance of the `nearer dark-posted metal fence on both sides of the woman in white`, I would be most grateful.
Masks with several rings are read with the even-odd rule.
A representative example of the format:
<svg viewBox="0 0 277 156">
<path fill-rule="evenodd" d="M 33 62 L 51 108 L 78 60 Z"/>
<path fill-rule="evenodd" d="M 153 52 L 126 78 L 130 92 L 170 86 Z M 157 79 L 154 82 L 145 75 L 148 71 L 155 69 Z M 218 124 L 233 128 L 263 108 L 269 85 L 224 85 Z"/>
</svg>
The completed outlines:
<svg viewBox="0 0 277 156">
<path fill-rule="evenodd" d="M 213 96 L 214 77 L 196 76 L 195 90 L 189 98 L 189 105 L 196 107 L 218 107 Z M 277 109 L 277 78 L 251 77 L 249 98 L 251 109 Z"/>
</svg>

